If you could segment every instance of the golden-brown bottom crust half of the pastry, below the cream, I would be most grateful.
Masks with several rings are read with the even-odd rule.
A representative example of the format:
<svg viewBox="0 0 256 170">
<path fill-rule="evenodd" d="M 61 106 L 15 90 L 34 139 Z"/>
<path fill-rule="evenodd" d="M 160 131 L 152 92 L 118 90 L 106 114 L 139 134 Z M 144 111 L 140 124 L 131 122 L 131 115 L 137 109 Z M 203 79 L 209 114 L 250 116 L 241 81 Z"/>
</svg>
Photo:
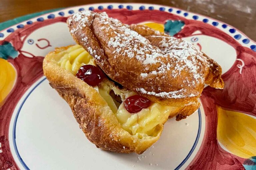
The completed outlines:
<svg viewBox="0 0 256 170">
<path fill-rule="evenodd" d="M 143 153 L 159 139 L 163 125 L 156 127 L 158 133 L 150 139 L 139 139 L 121 128 L 100 94 L 69 71 L 60 68 L 53 60 L 55 54 L 67 48 L 56 48 L 50 52 L 43 61 L 43 71 L 50 85 L 69 104 L 86 137 L 97 147 L 107 151 Z"/>
</svg>

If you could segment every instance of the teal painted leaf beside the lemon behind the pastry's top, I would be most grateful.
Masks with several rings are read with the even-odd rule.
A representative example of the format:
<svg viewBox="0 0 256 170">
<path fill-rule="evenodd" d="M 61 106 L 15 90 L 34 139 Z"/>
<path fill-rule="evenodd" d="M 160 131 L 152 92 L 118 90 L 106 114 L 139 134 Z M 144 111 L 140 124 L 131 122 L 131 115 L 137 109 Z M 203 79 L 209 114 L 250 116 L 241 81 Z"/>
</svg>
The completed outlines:
<svg viewBox="0 0 256 170">
<path fill-rule="evenodd" d="M 168 20 L 165 24 L 164 24 L 164 32 L 168 33 L 170 36 L 174 36 L 175 34 L 177 34 L 178 32 L 180 32 L 182 26 L 184 26 L 185 23 L 183 21 L 172 21 L 172 20 Z"/>
</svg>

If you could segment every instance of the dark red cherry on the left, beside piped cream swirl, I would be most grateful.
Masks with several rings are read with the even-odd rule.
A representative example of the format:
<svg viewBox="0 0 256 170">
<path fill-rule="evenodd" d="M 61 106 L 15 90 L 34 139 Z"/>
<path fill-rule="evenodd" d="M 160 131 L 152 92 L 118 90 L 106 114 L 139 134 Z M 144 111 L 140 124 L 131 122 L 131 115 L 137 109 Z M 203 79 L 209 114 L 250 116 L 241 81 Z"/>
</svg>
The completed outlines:
<svg viewBox="0 0 256 170">
<path fill-rule="evenodd" d="M 104 73 L 94 65 L 83 65 L 76 73 L 76 77 L 90 86 L 97 86 L 103 80 Z"/>
</svg>

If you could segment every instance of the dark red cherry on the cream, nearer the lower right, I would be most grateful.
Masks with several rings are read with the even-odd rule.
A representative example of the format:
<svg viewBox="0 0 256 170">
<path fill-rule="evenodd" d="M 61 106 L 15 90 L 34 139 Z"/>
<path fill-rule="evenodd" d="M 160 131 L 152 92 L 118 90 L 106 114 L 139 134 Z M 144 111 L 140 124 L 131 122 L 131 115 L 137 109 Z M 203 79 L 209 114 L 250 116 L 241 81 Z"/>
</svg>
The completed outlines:
<svg viewBox="0 0 256 170">
<path fill-rule="evenodd" d="M 137 113 L 141 111 L 143 108 L 147 108 L 150 106 L 150 100 L 140 95 L 134 95 L 128 97 L 124 101 L 124 107 L 129 113 Z"/>
</svg>

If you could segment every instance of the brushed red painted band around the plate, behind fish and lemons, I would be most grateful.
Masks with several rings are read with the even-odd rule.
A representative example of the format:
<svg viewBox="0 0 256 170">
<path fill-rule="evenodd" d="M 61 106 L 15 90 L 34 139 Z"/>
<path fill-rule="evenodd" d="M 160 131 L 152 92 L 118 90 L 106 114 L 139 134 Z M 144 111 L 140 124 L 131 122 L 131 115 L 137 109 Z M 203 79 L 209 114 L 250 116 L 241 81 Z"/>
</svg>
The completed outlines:
<svg viewBox="0 0 256 170">
<path fill-rule="evenodd" d="M 129 11 L 126 9 L 106 10 L 106 12 L 110 17 L 117 18 L 125 24 L 136 24 L 145 21 L 164 23 L 166 20 L 182 20 L 185 22 L 185 27 L 176 34 L 175 37 L 182 38 L 191 36 L 192 33 L 199 30 L 203 35 L 218 38 L 235 48 L 237 58 L 245 61 L 243 74 L 239 74 L 236 67 L 237 63 L 235 63 L 232 68 L 222 76 L 225 82 L 224 90 L 207 87 L 202 93 L 201 100 L 206 115 L 206 129 L 200 150 L 187 169 L 244 169 L 242 165 L 244 159 L 226 152 L 218 145 L 216 138 L 216 105 L 256 116 L 254 108 L 254 104 L 256 103 L 256 53 L 247 47 L 243 47 L 232 37 L 214 26 L 201 21 L 188 20 L 172 13 L 156 10 Z M 26 25 L 24 29 L 16 30 L 4 41 L 11 42 L 15 49 L 20 51 L 24 43 L 21 37 L 27 37 L 38 28 L 55 22 L 65 21 L 65 17 L 57 17 L 55 19 L 45 20 L 44 22 L 35 22 L 32 25 Z M 25 40 L 25 38 L 23 40 Z M 0 44 L 4 41 L 1 41 Z M 19 169 L 9 148 L 9 124 L 14 108 L 22 95 L 43 75 L 43 57 L 34 56 L 28 58 L 20 53 L 17 58 L 8 59 L 8 61 L 16 68 L 18 78 L 5 104 L 0 108 L 0 141 L 3 151 L 0 153 L 0 167 L 2 169 Z M 243 93 L 241 91 L 243 91 Z"/>
</svg>

